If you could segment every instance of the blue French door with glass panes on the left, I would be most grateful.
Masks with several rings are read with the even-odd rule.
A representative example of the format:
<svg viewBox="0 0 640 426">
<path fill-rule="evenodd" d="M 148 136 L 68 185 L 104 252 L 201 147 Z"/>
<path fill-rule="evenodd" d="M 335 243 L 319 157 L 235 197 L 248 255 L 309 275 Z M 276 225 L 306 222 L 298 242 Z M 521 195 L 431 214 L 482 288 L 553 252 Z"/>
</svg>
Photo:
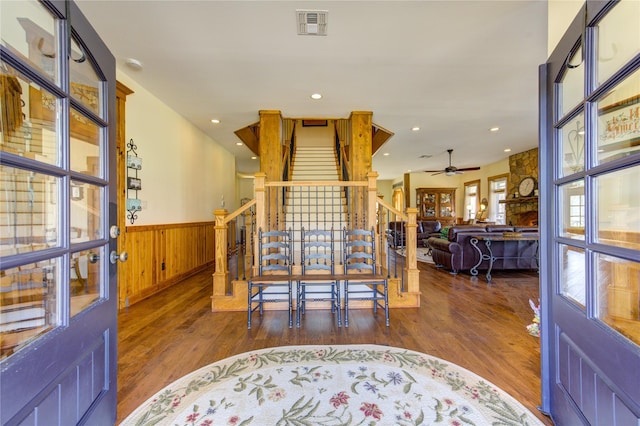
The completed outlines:
<svg viewBox="0 0 640 426">
<path fill-rule="evenodd" d="M 115 59 L 72 2 L 0 20 L 0 423 L 114 424 Z"/>
</svg>

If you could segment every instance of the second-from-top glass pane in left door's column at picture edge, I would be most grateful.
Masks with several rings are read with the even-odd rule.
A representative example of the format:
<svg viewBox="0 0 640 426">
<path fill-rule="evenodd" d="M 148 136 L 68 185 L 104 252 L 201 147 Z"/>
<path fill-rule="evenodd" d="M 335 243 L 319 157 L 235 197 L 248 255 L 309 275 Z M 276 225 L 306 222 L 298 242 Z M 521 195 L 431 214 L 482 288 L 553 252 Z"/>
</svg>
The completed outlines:
<svg viewBox="0 0 640 426">
<path fill-rule="evenodd" d="M 59 164 L 56 97 L 8 64 L 2 62 L 1 66 L 0 149 L 43 163 Z"/>
</svg>

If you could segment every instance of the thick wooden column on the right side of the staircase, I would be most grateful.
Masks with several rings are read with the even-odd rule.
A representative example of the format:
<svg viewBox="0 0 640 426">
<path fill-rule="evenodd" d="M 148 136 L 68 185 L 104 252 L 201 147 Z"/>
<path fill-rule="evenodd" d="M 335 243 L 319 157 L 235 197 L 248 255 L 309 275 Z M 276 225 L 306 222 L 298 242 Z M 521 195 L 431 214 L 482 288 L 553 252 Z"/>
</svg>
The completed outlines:
<svg viewBox="0 0 640 426">
<path fill-rule="evenodd" d="M 349 117 L 351 121 L 349 175 L 353 181 L 367 180 L 367 173 L 371 171 L 372 116 L 373 112 L 371 111 L 352 111 Z M 366 218 L 370 217 L 367 214 L 365 195 L 365 191 L 361 188 L 353 188 L 353 191 L 351 191 L 351 205 L 353 207 L 351 220 L 353 223 L 350 225 L 353 228 L 366 227 L 366 221 L 368 220 Z"/>
</svg>

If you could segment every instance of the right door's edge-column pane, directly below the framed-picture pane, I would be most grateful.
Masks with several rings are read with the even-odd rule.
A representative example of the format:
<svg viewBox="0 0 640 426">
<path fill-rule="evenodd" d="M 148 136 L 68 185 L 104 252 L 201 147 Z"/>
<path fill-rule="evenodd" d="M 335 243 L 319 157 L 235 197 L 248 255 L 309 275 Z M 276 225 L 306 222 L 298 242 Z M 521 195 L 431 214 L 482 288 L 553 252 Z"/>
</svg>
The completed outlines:
<svg viewBox="0 0 640 426">
<path fill-rule="evenodd" d="M 600 175 L 596 241 L 618 247 L 640 249 L 640 166 Z"/>
</svg>

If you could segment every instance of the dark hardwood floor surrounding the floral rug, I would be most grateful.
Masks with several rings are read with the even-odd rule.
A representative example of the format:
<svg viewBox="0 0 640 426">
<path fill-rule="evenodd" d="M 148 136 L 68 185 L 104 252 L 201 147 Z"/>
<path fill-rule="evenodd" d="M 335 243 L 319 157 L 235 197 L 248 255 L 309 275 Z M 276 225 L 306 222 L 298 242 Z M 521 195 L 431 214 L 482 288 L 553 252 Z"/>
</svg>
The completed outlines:
<svg viewBox="0 0 640 426">
<path fill-rule="evenodd" d="M 197 368 L 272 346 L 373 343 L 458 364 L 493 382 L 534 412 L 540 404 L 540 346 L 527 334 L 538 298 L 535 272 L 495 272 L 488 284 L 419 263 L 421 307 L 391 310 L 391 327 L 370 310 L 352 311 L 338 328 L 328 310 L 308 311 L 300 328 L 283 311 L 211 312 L 207 270 L 119 315 L 118 423 L 149 396 Z"/>
</svg>

